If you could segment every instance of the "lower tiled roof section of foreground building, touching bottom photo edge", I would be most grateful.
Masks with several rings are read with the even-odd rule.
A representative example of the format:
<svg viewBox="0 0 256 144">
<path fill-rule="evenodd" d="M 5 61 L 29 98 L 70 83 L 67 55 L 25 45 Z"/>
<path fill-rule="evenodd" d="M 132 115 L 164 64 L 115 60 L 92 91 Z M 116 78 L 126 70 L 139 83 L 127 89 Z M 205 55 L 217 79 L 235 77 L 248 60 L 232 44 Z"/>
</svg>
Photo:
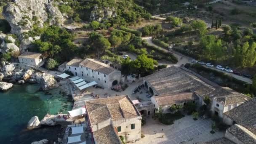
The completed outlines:
<svg viewBox="0 0 256 144">
<path fill-rule="evenodd" d="M 112 125 L 93 132 L 98 144 L 122 144 Z"/>
</svg>

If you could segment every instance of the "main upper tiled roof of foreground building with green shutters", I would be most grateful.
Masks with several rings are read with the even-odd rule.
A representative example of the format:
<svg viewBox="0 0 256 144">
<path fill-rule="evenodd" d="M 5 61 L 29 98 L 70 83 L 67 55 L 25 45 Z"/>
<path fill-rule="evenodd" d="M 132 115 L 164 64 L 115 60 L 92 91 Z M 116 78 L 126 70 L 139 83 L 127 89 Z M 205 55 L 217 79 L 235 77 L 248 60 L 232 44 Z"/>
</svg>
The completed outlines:
<svg viewBox="0 0 256 144">
<path fill-rule="evenodd" d="M 85 101 L 85 105 L 92 124 L 140 116 L 128 95 Z"/>
</svg>

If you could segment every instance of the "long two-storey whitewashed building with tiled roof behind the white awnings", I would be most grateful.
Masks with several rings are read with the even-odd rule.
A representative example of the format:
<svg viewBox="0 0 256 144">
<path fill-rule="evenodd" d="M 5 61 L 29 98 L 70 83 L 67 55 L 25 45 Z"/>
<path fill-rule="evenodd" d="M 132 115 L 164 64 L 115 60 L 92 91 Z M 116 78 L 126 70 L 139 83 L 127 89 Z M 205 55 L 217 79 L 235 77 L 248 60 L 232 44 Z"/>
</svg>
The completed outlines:
<svg viewBox="0 0 256 144">
<path fill-rule="evenodd" d="M 87 82 L 95 81 L 103 88 L 110 88 L 121 81 L 121 71 L 96 59 L 72 59 L 66 69 Z"/>
</svg>

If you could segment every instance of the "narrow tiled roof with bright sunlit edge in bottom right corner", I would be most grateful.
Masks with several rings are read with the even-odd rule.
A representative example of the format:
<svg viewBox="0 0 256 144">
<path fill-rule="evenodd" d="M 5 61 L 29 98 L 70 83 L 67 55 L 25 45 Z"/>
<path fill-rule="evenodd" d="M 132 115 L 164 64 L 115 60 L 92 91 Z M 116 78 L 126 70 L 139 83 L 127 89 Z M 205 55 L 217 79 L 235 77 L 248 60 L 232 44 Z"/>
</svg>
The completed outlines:
<svg viewBox="0 0 256 144">
<path fill-rule="evenodd" d="M 241 125 L 232 125 L 227 131 L 242 141 L 243 144 L 256 144 L 256 135 Z"/>
</svg>

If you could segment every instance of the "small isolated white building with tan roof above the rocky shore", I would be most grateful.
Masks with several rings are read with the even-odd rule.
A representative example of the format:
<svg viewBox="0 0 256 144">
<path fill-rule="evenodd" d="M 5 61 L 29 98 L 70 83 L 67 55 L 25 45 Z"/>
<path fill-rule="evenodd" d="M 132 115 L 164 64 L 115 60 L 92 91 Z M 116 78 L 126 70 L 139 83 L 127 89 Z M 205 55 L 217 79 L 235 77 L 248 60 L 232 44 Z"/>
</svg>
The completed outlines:
<svg viewBox="0 0 256 144">
<path fill-rule="evenodd" d="M 22 53 L 18 57 L 18 59 L 21 64 L 27 64 L 29 66 L 38 66 L 43 62 L 43 58 L 41 56 L 41 53 L 33 53 L 26 51 Z"/>
</svg>

